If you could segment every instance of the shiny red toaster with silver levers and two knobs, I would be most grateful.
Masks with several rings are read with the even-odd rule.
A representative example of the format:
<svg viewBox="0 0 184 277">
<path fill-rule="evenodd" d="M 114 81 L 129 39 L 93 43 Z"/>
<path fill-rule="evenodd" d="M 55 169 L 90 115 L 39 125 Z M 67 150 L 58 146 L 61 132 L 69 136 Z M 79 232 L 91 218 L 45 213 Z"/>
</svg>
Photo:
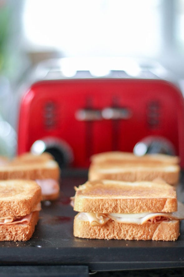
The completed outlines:
<svg viewBox="0 0 184 277">
<path fill-rule="evenodd" d="M 177 86 L 110 73 L 79 70 L 33 82 L 21 98 L 18 154 L 49 151 L 61 167 L 87 168 L 90 156 L 103 151 L 162 152 L 179 155 L 184 167 L 184 100 Z"/>
</svg>

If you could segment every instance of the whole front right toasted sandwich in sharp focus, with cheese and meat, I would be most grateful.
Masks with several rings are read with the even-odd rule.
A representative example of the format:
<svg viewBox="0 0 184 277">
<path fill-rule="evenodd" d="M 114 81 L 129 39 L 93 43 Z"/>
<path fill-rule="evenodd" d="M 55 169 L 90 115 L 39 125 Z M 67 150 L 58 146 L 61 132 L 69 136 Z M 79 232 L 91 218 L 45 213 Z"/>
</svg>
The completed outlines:
<svg viewBox="0 0 184 277">
<path fill-rule="evenodd" d="M 75 237 L 174 241 L 179 236 L 184 206 L 167 183 L 99 180 L 75 190 Z"/>
</svg>

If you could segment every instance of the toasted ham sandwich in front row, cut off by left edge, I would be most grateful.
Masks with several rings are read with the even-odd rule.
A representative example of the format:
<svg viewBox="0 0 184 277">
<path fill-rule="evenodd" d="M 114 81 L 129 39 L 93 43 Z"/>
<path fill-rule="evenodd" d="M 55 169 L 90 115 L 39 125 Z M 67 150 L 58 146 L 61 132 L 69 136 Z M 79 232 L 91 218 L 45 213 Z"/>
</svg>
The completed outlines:
<svg viewBox="0 0 184 277">
<path fill-rule="evenodd" d="M 35 181 L 0 181 L 0 241 L 29 240 L 41 210 L 41 188 Z"/>
</svg>

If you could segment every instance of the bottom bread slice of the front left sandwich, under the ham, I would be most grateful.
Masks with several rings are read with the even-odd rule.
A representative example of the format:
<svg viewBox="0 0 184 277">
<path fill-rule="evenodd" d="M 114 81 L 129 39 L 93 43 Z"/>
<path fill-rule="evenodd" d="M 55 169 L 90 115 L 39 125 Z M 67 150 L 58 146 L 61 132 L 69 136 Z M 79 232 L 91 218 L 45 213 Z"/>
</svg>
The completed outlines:
<svg viewBox="0 0 184 277">
<path fill-rule="evenodd" d="M 1 225 L 0 224 L 0 241 L 21 241 L 29 240 L 35 231 L 35 226 L 39 219 L 39 212 L 33 212 L 30 223 Z"/>
</svg>

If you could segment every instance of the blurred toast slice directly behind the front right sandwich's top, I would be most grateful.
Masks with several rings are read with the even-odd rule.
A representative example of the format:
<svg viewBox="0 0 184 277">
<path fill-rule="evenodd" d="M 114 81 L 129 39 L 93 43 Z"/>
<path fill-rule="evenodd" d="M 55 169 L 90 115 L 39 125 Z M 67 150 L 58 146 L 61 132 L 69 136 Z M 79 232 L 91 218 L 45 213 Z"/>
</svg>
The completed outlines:
<svg viewBox="0 0 184 277">
<path fill-rule="evenodd" d="M 169 165 L 160 163 L 158 165 L 149 163 L 126 163 L 120 164 L 91 164 L 88 172 L 88 179 L 112 179 L 120 181 L 153 181 L 155 178 L 162 178 L 165 182 L 176 185 L 179 181 L 180 167 L 176 164 Z"/>
</svg>

